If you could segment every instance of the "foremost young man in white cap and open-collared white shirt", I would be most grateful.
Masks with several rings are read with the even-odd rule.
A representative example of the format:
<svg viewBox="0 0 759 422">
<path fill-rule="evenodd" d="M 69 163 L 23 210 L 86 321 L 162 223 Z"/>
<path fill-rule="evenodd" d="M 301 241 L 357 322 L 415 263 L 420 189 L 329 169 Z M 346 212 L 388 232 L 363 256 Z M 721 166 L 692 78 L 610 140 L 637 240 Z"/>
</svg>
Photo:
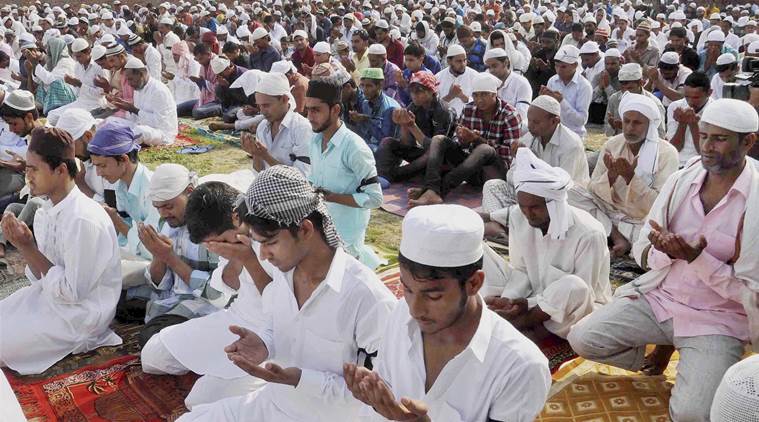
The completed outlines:
<svg viewBox="0 0 759 422">
<path fill-rule="evenodd" d="M 543 353 L 489 310 L 482 221 L 459 205 L 403 219 L 398 260 L 405 301 L 389 318 L 374 371 L 344 365 L 365 419 L 528 422 L 551 377 Z"/>
</svg>

